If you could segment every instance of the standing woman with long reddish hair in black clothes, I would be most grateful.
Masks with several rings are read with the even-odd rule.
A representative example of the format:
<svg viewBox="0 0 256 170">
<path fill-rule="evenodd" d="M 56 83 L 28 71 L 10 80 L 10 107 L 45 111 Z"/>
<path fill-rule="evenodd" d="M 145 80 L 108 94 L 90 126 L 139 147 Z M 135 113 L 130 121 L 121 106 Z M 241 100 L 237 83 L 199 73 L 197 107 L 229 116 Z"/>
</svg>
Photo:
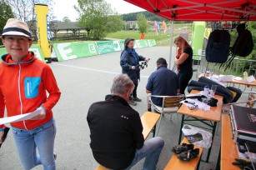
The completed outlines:
<svg viewBox="0 0 256 170">
<path fill-rule="evenodd" d="M 178 69 L 180 93 L 184 94 L 188 82 L 193 76 L 193 49 L 183 37 L 176 37 L 174 43 L 178 47 L 174 63 Z"/>
</svg>

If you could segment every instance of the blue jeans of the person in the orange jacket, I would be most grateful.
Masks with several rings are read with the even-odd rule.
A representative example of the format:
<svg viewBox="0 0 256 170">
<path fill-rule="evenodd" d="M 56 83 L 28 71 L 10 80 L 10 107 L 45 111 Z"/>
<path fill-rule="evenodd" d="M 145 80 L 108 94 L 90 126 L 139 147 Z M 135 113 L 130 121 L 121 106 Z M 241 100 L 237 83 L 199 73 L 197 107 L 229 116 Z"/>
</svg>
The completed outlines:
<svg viewBox="0 0 256 170">
<path fill-rule="evenodd" d="M 24 169 L 31 169 L 43 164 L 44 170 L 55 170 L 53 146 L 56 135 L 54 119 L 32 130 L 14 128 L 13 138 L 18 150 L 18 157 Z M 38 148 L 38 153 L 37 150 Z"/>
</svg>

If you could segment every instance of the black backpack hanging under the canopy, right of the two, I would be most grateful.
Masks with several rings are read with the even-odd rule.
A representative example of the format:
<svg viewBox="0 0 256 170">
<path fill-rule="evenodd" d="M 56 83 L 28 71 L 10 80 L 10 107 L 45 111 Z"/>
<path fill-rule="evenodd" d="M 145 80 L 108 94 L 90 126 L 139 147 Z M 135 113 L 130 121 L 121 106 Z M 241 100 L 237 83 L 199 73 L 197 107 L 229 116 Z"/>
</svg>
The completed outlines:
<svg viewBox="0 0 256 170">
<path fill-rule="evenodd" d="M 247 57 L 253 51 L 252 33 L 245 28 L 245 23 L 239 24 L 237 31 L 238 37 L 230 51 L 233 53 L 233 56 Z"/>
</svg>

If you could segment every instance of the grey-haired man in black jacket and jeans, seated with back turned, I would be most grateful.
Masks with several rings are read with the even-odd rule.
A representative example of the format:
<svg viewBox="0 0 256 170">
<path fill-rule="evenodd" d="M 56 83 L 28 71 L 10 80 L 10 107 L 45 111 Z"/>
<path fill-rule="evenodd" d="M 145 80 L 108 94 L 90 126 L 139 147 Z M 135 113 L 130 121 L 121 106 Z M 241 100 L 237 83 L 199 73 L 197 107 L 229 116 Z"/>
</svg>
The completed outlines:
<svg viewBox="0 0 256 170">
<path fill-rule="evenodd" d="M 163 148 L 163 138 L 144 142 L 143 125 L 138 112 L 129 106 L 133 81 L 126 74 L 113 79 L 111 93 L 103 102 L 94 102 L 88 110 L 90 147 L 95 160 L 106 168 L 130 169 L 146 158 L 143 169 L 155 170 Z"/>
</svg>

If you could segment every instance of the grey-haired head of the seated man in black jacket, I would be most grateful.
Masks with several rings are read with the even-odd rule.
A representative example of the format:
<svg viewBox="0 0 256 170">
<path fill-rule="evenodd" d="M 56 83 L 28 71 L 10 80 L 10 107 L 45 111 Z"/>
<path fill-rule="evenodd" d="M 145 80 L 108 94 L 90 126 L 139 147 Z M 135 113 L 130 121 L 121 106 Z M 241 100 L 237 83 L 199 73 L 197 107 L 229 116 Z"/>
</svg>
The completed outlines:
<svg viewBox="0 0 256 170">
<path fill-rule="evenodd" d="M 117 96 L 123 97 L 126 101 L 129 100 L 130 93 L 133 92 L 134 84 L 127 74 L 119 74 L 113 78 L 110 92 Z"/>
</svg>

